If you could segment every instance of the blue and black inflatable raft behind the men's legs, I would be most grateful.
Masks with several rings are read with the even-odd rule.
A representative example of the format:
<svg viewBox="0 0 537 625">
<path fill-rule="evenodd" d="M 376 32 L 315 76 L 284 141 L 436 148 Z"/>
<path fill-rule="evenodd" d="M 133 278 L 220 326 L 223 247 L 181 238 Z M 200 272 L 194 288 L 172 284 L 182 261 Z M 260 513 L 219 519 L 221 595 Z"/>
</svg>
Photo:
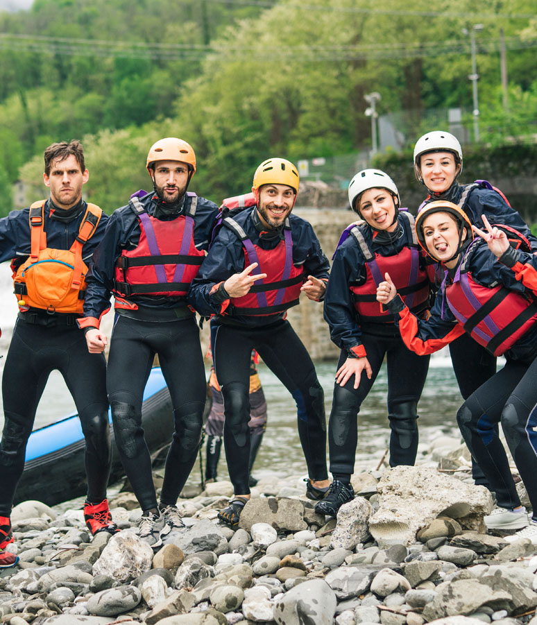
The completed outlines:
<svg viewBox="0 0 537 625">
<path fill-rule="evenodd" d="M 112 423 L 112 416 L 108 412 Z M 151 369 L 144 390 L 142 427 L 152 459 L 162 459 L 171 443 L 173 417 L 171 399 L 160 367 Z M 124 475 L 112 436 L 110 483 Z M 37 499 L 53 506 L 86 494 L 85 440 L 78 415 L 35 429 L 26 447 L 24 473 L 17 486 L 15 504 Z"/>
</svg>

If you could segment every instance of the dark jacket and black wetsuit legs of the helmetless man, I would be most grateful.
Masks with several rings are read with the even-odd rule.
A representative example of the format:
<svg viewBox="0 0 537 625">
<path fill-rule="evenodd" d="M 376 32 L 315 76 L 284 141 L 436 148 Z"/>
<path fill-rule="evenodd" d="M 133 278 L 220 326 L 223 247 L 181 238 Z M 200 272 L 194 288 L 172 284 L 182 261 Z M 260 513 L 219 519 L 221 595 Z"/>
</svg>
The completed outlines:
<svg viewBox="0 0 537 625">
<path fill-rule="evenodd" d="M 68 211 L 44 206 L 44 230 L 49 248 L 68 250 L 78 235 L 86 205 Z M 0 262 L 15 259 L 15 266 L 30 255 L 28 210 L 12 211 L 0 219 Z M 83 246 L 89 263 L 101 241 L 108 217 L 103 214 L 93 236 Z M 110 474 L 110 427 L 103 354 L 89 354 L 76 314 L 49 314 L 31 308 L 19 312 L 3 369 L 2 395 L 5 422 L 0 443 L 0 516 L 9 516 L 17 483 L 24 470 L 26 443 L 35 412 L 51 371 L 58 370 L 73 396 L 85 437 L 87 499 L 94 504 L 106 497 Z"/>
</svg>

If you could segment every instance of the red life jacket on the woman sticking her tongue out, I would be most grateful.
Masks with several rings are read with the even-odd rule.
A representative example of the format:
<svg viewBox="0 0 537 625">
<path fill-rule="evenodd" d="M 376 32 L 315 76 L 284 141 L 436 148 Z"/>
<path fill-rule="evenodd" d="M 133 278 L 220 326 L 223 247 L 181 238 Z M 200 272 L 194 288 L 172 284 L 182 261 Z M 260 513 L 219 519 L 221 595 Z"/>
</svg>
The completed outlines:
<svg viewBox="0 0 537 625">
<path fill-rule="evenodd" d="M 475 282 L 466 269 L 467 259 L 468 254 L 453 283 L 445 287 L 445 300 L 465 332 L 491 354 L 501 356 L 534 326 L 537 302 L 501 284 L 491 288 Z"/>
</svg>

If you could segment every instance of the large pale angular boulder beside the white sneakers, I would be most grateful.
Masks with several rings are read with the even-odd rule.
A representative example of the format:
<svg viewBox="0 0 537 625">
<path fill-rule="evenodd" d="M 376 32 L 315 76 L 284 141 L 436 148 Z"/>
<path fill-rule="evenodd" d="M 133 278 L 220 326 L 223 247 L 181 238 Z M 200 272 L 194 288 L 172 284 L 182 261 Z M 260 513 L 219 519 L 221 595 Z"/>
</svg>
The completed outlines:
<svg viewBox="0 0 537 625">
<path fill-rule="evenodd" d="M 425 466 L 386 471 L 377 493 L 379 509 L 369 519 L 369 531 L 382 548 L 410 545 L 416 533 L 439 515 L 456 519 L 465 529 L 485 531 L 483 517 L 493 508 L 491 493 L 484 486 Z"/>
</svg>

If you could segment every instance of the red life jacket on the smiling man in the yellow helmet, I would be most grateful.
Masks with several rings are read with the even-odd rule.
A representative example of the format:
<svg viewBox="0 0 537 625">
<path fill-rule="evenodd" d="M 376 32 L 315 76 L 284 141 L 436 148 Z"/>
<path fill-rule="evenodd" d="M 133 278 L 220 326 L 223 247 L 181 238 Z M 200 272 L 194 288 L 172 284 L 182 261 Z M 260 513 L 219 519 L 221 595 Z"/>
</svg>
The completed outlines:
<svg viewBox="0 0 537 625">
<path fill-rule="evenodd" d="M 231 298 L 231 314 L 271 315 L 296 306 L 304 282 L 304 268 L 293 265 L 289 218 L 284 222 L 284 240 L 273 250 L 264 250 L 254 245 L 241 225 L 231 217 L 226 217 L 223 223 L 241 239 L 245 266 L 257 263 L 252 275 L 266 273 L 266 278 L 257 280 L 245 296 Z"/>
</svg>

